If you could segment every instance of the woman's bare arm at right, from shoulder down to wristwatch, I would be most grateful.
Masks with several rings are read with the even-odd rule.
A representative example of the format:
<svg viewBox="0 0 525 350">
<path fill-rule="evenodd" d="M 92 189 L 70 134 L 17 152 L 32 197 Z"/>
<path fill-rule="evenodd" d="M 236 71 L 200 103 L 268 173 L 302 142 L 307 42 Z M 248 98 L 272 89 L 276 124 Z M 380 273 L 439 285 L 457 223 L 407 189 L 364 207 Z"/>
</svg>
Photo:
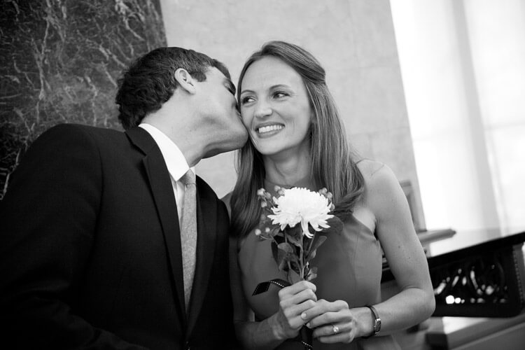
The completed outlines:
<svg viewBox="0 0 525 350">
<path fill-rule="evenodd" d="M 390 168 L 382 166 L 370 176 L 368 199 L 377 218 L 377 237 L 400 288 L 376 305 L 381 333 L 386 334 L 426 320 L 435 309 L 435 298 L 405 194 Z"/>
</svg>

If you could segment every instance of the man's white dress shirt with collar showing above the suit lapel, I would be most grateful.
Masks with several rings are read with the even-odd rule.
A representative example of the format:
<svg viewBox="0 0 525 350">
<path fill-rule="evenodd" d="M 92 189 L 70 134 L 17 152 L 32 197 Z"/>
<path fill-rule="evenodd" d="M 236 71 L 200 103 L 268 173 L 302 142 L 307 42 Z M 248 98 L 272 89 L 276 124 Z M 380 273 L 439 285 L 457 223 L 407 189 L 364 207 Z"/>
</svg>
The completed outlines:
<svg viewBox="0 0 525 350">
<path fill-rule="evenodd" d="M 150 124 L 141 123 L 139 125 L 142 129 L 146 130 L 148 134 L 153 137 L 155 143 L 160 148 L 160 153 L 162 153 L 162 158 L 166 162 L 166 167 L 168 168 L 169 178 L 172 180 L 173 193 L 175 195 L 175 202 L 177 204 L 177 214 L 179 215 L 179 224 L 182 222 L 182 210 L 184 202 L 184 192 L 185 186 L 180 181 L 181 177 L 188 172 L 190 166 L 184 158 L 181 150 L 177 145 L 166 136 L 164 132 L 161 132 L 156 127 Z M 191 168 L 195 174 L 195 167 Z"/>
</svg>

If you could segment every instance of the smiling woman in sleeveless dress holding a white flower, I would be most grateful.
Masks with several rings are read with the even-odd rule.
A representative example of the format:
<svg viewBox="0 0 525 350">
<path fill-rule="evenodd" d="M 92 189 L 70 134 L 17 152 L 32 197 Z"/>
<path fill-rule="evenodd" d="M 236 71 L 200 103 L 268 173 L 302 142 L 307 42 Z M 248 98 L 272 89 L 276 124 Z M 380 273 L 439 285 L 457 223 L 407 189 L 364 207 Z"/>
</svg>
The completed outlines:
<svg viewBox="0 0 525 350">
<path fill-rule="evenodd" d="M 325 71 L 306 50 L 266 43 L 244 64 L 238 87 L 250 135 L 239 151 L 230 197 L 235 232 L 230 278 L 240 342 L 248 349 L 303 349 L 293 338 L 307 325 L 314 330 L 316 350 L 398 348 L 388 334 L 428 318 L 435 302 L 395 176 L 379 162 L 353 161 Z M 274 194 L 275 185 L 328 188 L 344 228 L 340 235 L 327 235 L 318 248 L 311 262 L 318 267 L 316 279 L 271 286 L 253 296 L 258 283 L 286 279 L 272 258 L 270 241 L 253 233 L 261 214 L 257 190 Z M 381 248 L 400 287 L 384 301 Z"/>
</svg>

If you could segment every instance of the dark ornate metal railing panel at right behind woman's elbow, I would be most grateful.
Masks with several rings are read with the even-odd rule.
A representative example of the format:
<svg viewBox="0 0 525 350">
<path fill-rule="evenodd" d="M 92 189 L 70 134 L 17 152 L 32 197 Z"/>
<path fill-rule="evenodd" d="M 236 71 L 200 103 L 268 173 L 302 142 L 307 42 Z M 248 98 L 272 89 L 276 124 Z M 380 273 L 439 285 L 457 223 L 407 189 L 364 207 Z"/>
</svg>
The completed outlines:
<svg viewBox="0 0 525 350">
<path fill-rule="evenodd" d="M 525 232 L 428 258 L 433 316 L 509 317 L 525 307 Z M 393 279 L 388 267 L 383 281 Z"/>
</svg>

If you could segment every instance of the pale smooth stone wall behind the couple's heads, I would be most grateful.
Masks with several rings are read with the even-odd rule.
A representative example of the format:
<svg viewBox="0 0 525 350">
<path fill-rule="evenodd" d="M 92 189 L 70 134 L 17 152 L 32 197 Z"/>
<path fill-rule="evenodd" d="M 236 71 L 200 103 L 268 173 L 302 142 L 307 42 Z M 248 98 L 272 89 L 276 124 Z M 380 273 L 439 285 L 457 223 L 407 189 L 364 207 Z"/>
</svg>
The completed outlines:
<svg viewBox="0 0 525 350">
<path fill-rule="evenodd" d="M 389 0 L 160 0 L 168 45 L 225 62 L 237 81 L 251 52 L 269 40 L 311 51 L 327 72 L 349 140 L 412 184 L 413 214 L 424 226 Z M 191 20 L 188 20 L 188 19 Z M 197 173 L 218 195 L 232 190 L 233 154 L 203 160 Z"/>
</svg>

